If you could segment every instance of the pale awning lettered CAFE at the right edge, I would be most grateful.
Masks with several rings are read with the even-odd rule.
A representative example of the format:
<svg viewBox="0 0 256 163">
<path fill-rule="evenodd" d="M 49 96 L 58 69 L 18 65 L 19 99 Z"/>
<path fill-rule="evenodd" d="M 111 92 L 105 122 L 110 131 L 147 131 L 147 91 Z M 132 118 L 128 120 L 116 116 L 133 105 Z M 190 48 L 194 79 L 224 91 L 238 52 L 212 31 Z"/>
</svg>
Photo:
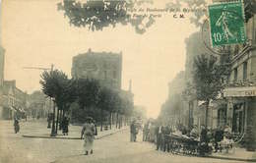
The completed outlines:
<svg viewBox="0 0 256 163">
<path fill-rule="evenodd" d="M 256 96 L 256 86 L 228 87 L 224 89 L 224 97 Z"/>
</svg>

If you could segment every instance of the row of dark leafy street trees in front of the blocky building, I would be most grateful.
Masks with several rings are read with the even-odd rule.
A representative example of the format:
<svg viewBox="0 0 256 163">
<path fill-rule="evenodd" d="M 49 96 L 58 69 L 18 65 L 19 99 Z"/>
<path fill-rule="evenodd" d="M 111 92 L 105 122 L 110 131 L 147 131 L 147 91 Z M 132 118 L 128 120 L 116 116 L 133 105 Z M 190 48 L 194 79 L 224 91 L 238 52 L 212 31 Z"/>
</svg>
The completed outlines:
<svg viewBox="0 0 256 163">
<path fill-rule="evenodd" d="M 103 86 L 95 79 L 68 79 L 62 71 L 52 70 L 44 71 L 39 82 L 43 93 L 53 100 L 53 122 L 56 124 L 52 123 L 51 136 L 56 136 L 58 123 L 67 113 L 80 114 L 77 114 L 76 110 L 70 110 L 74 103 L 79 106 L 80 111 L 86 113 L 80 118 L 80 122 L 85 120 L 85 116 L 91 116 L 100 121 L 101 130 L 106 117 L 112 117 L 113 114 L 117 119 L 120 115 L 120 117 L 129 117 L 133 111 L 131 100 L 121 96 L 119 90 Z M 57 106 L 57 114 L 55 106 Z"/>
</svg>

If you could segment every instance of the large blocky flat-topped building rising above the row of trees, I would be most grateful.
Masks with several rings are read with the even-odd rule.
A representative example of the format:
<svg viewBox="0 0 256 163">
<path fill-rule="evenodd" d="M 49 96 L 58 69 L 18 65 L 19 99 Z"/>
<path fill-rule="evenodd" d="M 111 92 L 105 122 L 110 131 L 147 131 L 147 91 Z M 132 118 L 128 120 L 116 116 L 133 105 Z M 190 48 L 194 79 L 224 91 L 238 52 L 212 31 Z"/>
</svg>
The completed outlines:
<svg viewBox="0 0 256 163">
<path fill-rule="evenodd" d="M 122 53 L 93 52 L 73 57 L 72 78 L 96 79 L 103 85 L 121 89 Z"/>
</svg>

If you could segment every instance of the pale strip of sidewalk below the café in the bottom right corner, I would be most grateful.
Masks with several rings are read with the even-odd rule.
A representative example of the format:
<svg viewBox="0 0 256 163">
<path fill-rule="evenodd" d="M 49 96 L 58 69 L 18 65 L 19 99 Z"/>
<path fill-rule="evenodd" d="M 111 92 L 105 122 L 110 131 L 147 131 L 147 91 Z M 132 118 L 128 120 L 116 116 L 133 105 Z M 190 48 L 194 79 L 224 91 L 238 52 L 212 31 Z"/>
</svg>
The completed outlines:
<svg viewBox="0 0 256 163">
<path fill-rule="evenodd" d="M 256 151 L 246 151 L 246 149 L 244 148 L 234 147 L 228 153 L 217 152 L 213 153 L 208 157 L 236 161 L 256 162 Z"/>
</svg>

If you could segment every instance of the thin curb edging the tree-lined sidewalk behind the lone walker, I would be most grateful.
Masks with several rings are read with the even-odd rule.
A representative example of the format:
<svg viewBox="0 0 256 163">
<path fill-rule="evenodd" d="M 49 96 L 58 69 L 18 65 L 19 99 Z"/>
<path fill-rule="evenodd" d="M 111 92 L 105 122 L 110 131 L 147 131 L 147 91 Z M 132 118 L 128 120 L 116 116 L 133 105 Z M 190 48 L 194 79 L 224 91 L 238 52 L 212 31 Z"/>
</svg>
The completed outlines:
<svg viewBox="0 0 256 163">
<path fill-rule="evenodd" d="M 118 130 L 114 133 L 110 133 L 110 134 L 107 134 L 107 135 L 103 135 L 103 136 L 96 136 L 95 139 L 100 139 L 100 138 L 103 138 L 105 136 L 111 136 L 111 135 L 114 135 L 116 133 L 119 133 L 119 132 L 122 132 L 122 131 L 125 131 L 127 129 L 122 129 L 122 130 Z M 60 137 L 60 136 L 29 136 L 29 135 L 23 135 L 24 137 L 28 137 L 28 138 L 55 138 L 55 139 L 81 139 L 81 137 Z"/>
</svg>

